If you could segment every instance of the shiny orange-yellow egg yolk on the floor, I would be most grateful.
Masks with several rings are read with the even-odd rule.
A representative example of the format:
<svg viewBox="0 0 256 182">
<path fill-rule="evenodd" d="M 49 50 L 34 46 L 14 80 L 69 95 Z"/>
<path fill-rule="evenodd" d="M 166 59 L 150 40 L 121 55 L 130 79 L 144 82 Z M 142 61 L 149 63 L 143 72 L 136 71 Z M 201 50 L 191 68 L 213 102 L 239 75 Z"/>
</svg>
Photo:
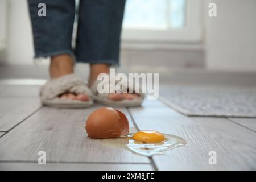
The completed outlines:
<svg viewBox="0 0 256 182">
<path fill-rule="evenodd" d="M 166 140 L 162 133 L 158 131 L 138 131 L 133 135 L 133 139 L 141 142 L 163 142 Z"/>
</svg>

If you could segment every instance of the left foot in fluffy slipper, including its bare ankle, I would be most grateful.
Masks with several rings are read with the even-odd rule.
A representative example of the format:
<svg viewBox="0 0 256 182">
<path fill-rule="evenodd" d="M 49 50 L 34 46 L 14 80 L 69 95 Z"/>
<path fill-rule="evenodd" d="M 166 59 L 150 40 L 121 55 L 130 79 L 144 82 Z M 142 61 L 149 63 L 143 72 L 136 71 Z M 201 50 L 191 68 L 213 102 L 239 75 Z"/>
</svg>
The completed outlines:
<svg viewBox="0 0 256 182">
<path fill-rule="evenodd" d="M 93 104 L 88 86 L 73 74 L 71 56 L 52 56 L 50 74 L 52 79 L 40 90 L 43 105 L 76 108 L 89 107 Z"/>
</svg>

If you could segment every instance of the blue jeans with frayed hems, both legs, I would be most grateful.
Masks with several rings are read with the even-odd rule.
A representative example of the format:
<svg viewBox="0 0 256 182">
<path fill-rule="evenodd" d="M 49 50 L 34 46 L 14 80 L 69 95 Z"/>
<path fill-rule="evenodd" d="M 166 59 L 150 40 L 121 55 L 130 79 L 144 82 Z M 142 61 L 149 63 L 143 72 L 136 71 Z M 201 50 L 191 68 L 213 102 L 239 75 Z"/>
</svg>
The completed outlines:
<svg viewBox="0 0 256 182">
<path fill-rule="evenodd" d="M 46 4 L 46 17 L 38 4 Z M 75 0 L 28 0 L 35 57 L 68 53 L 85 63 L 119 63 L 125 0 L 80 0 L 76 48 L 72 49 Z"/>
</svg>

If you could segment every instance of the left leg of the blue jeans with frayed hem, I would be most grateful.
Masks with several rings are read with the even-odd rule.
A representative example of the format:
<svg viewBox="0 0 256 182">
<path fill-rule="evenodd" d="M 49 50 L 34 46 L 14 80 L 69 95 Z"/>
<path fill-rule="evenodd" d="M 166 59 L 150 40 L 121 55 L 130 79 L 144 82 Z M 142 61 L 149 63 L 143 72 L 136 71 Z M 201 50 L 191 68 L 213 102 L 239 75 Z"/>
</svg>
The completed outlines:
<svg viewBox="0 0 256 182">
<path fill-rule="evenodd" d="M 28 0 L 35 57 L 72 55 L 75 0 L 44 0 L 46 17 L 38 16 L 40 0 Z"/>
</svg>

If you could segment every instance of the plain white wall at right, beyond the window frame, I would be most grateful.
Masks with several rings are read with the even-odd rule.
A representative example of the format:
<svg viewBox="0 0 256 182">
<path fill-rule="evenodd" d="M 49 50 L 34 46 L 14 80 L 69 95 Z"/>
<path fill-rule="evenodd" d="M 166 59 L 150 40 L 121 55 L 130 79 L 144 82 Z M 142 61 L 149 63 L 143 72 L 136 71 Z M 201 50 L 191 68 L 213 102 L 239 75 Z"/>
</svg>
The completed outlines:
<svg viewBox="0 0 256 182">
<path fill-rule="evenodd" d="M 256 1 L 208 0 L 217 5 L 217 17 L 208 18 L 208 69 L 256 71 Z"/>
</svg>

